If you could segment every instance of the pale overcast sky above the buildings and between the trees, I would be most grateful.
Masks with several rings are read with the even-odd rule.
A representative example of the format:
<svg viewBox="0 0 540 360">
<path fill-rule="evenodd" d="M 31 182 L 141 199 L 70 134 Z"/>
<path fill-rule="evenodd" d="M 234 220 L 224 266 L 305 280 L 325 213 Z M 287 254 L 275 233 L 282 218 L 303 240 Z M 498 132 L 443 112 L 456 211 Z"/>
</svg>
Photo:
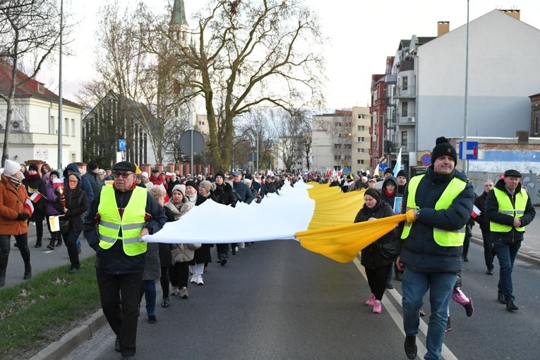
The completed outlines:
<svg viewBox="0 0 540 360">
<path fill-rule="evenodd" d="M 64 8 L 78 22 L 70 45 L 73 56 L 64 56 L 64 98 L 75 100 L 84 80 L 95 77 L 92 68 L 95 46 L 96 14 L 110 0 L 64 0 Z M 153 8 L 163 8 L 166 0 L 145 0 Z M 184 0 L 186 16 L 206 0 Z M 437 22 L 450 21 L 450 31 L 467 23 L 467 0 L 306 0 L 318 12 L 324 35 L 329 38 L 325 49 L 325 97 L 328 108 L 342 109 L 367 106 L 371 75 L 383 73 L 386 56 L 394 56 L 401 39 L 412 35 L 437 35 Z M 119 4 L 136 4 L 136 0 L 119 0 Z M 470 20 L 494 8 L 517 8 L 524 23 L 540 29 L 540 0 L 471 0 Z M 50 90 L 58 92 L 56 64 L 38 76 Z"/>
</svg>

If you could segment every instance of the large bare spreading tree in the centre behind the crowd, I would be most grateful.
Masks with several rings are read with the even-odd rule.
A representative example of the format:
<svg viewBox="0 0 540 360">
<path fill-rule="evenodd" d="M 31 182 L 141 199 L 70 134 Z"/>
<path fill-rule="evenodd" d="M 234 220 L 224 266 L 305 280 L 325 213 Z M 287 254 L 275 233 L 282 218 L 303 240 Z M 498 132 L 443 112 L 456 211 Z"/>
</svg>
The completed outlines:
<svg viewBox="0 0 540 360">
<path fill-rule="evenodd" d="M 318 18 L 301 0 L 213 0 L 197 18 L 194 43 L 176 42 L 177 79 L 203 95 L 212 164 L 225 168 L 236 116 L 261 104 L 287 110 L 322 104 L 323 56 L 312 44 L 323 39 Z"/>
</svg>

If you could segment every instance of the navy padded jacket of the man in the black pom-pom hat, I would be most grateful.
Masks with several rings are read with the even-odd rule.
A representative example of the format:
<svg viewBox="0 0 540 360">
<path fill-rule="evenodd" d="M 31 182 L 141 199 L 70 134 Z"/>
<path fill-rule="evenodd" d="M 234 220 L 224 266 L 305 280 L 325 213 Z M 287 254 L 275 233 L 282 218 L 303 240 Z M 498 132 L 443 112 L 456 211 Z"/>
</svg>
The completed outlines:
<svg viewBox="0 0 540 360">
<path fill-rule="evenodd" d="M 435 204 L 454 177 L 465 181 L 467 185 L 453 200 L 450 208 L 435 210 Z M 407 210 L 409 184 L 403 196 L 403 213 Z M 401 254 L 401 263 L 410 270 L 419 272 L 460 272 L 463 246 L 438 245 L 433 239 L 433 228 L 453 231 L 462 229 L 467 224 L 474 202 L 472 184 L 463 172 L 454 169 L 448 175 L 440 175 L 433 171 L 432 165 L 428 167 L 426 176 L 420 181 L 415 200 L 421 210 L 421 215 L 412 224 L 407 239 L 397 241 L 396 252 Z"/>
</svg>

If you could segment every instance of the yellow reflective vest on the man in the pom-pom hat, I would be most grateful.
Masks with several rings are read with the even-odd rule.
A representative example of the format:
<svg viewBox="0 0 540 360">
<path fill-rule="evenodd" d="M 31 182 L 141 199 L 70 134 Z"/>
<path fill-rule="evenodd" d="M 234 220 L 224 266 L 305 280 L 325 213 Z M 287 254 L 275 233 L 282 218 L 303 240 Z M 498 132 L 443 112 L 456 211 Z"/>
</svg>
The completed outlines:
<svg viewBox="0 0 540 360">
<path fill-rule="evenodd" d="M 418 209 L 416 205 L 416 190 L 418 190 L 418 185 L 420 184 L 421 179 L 424 175 L 414 176 L 411 181 L 409 181 L 409 195 L 407 197 L 407 210 L 409 209 Z M 435 204 L 435 210 L 447 210 L 452 205 L 457 196 L 464 190 L 467 183 L 457 177 L 454 177 L 450 180 L 448 186 L 446 186 L 445 191 L 441 194 L 439 200 Z M 412 222 L 405 222 L 403 227 L 403 232 L 401 234 L 402 239 L 407 239 L 411 232 L 411 227 L 413 226 Z M 457 229 L 454 231 L 433 228 L 433 239 L 440 246 L 462 246 L 465 239 L 465 226 L 462 229 Z"/>
</svg>

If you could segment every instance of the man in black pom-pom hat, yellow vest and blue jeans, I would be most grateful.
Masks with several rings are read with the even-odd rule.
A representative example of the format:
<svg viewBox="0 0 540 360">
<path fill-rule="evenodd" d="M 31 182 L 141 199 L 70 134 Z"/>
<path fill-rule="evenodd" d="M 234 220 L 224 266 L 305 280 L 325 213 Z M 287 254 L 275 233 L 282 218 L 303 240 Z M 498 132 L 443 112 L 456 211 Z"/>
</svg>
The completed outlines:
<svg viewBox="0 0 540 360">
<path fill-rule="evenodd" d="M 416 357 L 416 333 L 422 298 L 429 289 L 431 316 L 426 359 L 440 359 L 448 304 L 462 267 L 465 225 L 471 217 L 474 188 L 455 169 L 457 155 L 447 138 L 438 138 L 426 174 L 413 176 L 405 188 L 402 212 L 414 209 L 414 222 L 404 223 L 396 251 L 402 282 L 404 349 Z"/>
</svg>

